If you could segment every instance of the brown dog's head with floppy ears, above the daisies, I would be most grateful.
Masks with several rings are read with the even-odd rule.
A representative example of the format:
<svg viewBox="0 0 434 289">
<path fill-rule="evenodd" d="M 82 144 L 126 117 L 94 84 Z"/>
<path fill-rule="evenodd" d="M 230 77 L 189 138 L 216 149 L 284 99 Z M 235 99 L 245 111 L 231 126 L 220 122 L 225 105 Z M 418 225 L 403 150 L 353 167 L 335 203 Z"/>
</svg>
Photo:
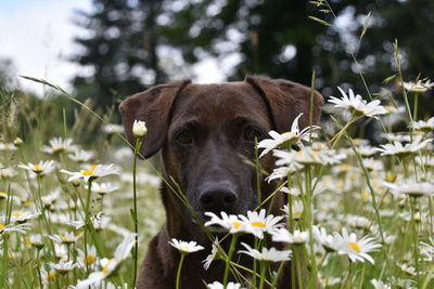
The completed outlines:
<svg viewBox="0 0 434 289">
<path fill-rule="evenodd" d="M 264 77 L 222 84 L 186 81 L 132 95 L 120 111 L 131 144 L 135 119 L 145 121 L 149 132 L 140 153 L 148 158 L 163 149 L 165 178 L 179 184 L 199 215 L 245 213 L 258 201 L 257 170 L 248 163 L 255 159 L 255 140 L 268 137 L 270 130 L 289 131 L 299 113 L 299 126 L 308 126 L 310 95 L 302 84 Z M 317 122 L 322 96 L 312 95 Z M 272 158 L 261 158 L 260 165 L 270 171 Z M 270 192 L 259 183 L 264 198 Z M 175 196 L 163 198 L 179 203 Z"/>
</svg>

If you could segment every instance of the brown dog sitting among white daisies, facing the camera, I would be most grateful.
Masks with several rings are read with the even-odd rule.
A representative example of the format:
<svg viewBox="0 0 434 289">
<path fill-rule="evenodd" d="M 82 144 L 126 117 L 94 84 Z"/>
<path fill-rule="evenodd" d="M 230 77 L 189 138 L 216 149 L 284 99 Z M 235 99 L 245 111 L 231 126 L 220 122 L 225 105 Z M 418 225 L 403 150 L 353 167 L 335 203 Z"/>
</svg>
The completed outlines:
<svg viewBox="0 0 434 289">
<path fill-rule="evenodd" d="M 248 77 L 243 82 L 221 84 L 184 81 L 157 86 L 120 104 L 131 144 L 136 142 L 131 131 L 135 119 L 146 122 L 149 133 L 141 154 L 148 158 L 163 149 L 163 175 L 169 184 L 161 189 L 167 220 L 149 245 L 137 288 L 175 288 L 179 253 L 168 245 L 170 238 L 195 240 L 205 247 L 187 255 L 182 288 L 204 288 L 204 283 L 221 281 L 222 261 L 213 262 L 208 271 L 202 267 L 210 241 L 173 192 L 176 186 L 171 180 L 179 184 L 199 220 L 205 221 L 206 211 L 245 214 L 258 205 L 256 169 L 245 161 L 254 161 L 255 139 L 268 137 L 270 130 L 289 131 L 299 113 L 304 113 L 299 124 L 306 127 L 310 95 L 311 90 L 298 83 Z M 317 122 L 322 96 L 318 92 L 314 96 Z M 271 171 L 272 157 L 263 157 L 260 165 Z M 260 178 L 265 199 L 276 184 Z M 278 214 L 284 201 L 278 196 L 270 212 Z M 285 278 L 280 284 L 289 288 Z"/>
</svg>

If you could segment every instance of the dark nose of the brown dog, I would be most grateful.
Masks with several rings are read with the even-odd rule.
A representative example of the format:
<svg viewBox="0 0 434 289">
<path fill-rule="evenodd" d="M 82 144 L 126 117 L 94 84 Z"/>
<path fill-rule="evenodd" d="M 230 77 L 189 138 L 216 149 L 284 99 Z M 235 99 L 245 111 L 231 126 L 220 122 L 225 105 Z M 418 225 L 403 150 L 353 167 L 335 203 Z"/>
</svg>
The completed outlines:
<svg viewBox="0 0 434 289">
<path fill-rule="evenodd" d="M 201 206 L 204 211 L 219 213 L 231 211 L 237 203 L 235 189 L 230 186 L 208 186 L 200 194 Z"/>
</svg>

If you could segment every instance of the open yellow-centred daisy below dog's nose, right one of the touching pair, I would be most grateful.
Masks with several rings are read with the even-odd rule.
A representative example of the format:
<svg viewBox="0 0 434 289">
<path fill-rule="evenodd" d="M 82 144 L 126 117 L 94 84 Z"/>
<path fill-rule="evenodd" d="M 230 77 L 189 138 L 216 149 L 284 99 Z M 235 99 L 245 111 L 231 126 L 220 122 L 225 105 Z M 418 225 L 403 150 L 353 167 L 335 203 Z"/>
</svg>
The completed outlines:
<svg viewBox="0 0 434 289">
<path fill-rule="evenodd" d="M 283 224 L 278 224 L 283 216 L 266 216 L 266 210 L 261 209 L 258 212 L 247 211 L 247 216 L 239 214 L 240 220 L 245 224 L 245 232 L 255 235 L 259 239 L 264 238 L 264 233 L 281 227 Z"/>
</svg>

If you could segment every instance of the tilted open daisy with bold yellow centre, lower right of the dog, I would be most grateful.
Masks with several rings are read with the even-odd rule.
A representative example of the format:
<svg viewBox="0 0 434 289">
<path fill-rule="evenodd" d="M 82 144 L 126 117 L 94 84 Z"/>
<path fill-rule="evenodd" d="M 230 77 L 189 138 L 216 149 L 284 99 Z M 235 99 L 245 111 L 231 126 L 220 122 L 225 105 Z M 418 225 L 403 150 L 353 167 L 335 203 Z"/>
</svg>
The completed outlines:
<svg viewBox="0 0 434 289">
<path fill-rule="evenodd" d="M 348 234 L 345 227 L 342 228 L 342 235 L 336 232 L 334 233 L 334 240 L 339 248 L 337 253 L 347 254 L 352 262 L 365 262 L 365 260 L 367 260 L 371 264 L 374 264 L 372 257 L 368 253 L 376 251 L 376 249 L 381 247 L 373 238 L 365 236 L 358 239 L 355 233 Z"/>
</svg>

